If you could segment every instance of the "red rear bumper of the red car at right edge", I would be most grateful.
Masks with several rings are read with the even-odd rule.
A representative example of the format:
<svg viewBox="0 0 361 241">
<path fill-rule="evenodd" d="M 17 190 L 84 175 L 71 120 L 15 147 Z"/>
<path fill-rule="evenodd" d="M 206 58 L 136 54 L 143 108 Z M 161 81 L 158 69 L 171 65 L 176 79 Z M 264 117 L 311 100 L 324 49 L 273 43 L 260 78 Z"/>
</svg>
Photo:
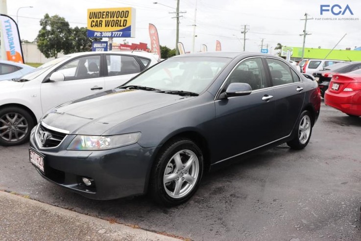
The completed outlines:
<svg viewBox="0 0 361 241">
<path fill-rule="evenodd" d="M 341 92 L 337 94 L 326 91 L 325 104 L 343 113 L 361 116 L 361 91 Z"/>
</svg>

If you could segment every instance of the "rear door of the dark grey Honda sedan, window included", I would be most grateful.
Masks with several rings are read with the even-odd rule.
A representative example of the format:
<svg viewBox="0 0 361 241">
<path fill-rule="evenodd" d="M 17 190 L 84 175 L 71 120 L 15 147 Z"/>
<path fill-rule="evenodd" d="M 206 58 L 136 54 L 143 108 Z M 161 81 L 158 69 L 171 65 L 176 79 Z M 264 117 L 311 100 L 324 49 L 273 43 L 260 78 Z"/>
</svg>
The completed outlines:
<svg viewBox="0 0 361 241">
<path fill-rule="evenodd" d="M 300 115 L 305 98 L 304 83 L 297 73 L 279 59 L 265 58 L 271 76 L 275 102 L 275 139 L 288 136 Z"/>
</svg>

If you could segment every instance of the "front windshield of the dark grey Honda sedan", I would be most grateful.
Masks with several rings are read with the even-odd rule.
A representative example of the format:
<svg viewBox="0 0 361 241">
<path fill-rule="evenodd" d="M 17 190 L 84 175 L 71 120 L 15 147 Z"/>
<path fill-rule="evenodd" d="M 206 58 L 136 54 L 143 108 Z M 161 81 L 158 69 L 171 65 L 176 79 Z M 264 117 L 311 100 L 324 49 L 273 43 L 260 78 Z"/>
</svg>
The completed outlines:
<svg viewBox="0 0 361 241">
<path fill-rule="evenodd" d="M 124 86 L 201 93 L 230 61 L 220 57 L 176 57 L 163 61 Z"/>
</svg>

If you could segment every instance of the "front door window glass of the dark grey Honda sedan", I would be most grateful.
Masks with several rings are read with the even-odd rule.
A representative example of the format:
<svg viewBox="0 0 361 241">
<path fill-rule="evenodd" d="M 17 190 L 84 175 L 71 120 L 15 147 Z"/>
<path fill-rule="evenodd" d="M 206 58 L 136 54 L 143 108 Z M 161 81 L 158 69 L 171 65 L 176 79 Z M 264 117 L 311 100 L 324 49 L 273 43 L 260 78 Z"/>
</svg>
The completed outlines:
<svg viewBox="0 0 361 241">
<path fill-rule="evenodd" d="M 231 83 L 246 83 L 251 86 L 252 90 L 265 88 L 267 84 L 261 58 L 242 61 L 229 75 L 223 91 Z"/>
</svg>

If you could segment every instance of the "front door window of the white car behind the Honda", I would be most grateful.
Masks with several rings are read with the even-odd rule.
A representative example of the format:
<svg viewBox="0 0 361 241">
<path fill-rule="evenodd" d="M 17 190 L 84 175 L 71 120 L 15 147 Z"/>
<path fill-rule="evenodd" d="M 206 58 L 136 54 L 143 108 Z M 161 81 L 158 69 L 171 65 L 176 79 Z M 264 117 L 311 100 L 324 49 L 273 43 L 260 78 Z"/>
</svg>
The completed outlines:
<svg viewBox="0 0 361 241">
<path fill-rule="evenodd" d="M 99 77 L 100 55 L 77 58 L 62 67 L 57 72 L 64 74 L 64 80 L 86 79 Z"/>
</svg>

